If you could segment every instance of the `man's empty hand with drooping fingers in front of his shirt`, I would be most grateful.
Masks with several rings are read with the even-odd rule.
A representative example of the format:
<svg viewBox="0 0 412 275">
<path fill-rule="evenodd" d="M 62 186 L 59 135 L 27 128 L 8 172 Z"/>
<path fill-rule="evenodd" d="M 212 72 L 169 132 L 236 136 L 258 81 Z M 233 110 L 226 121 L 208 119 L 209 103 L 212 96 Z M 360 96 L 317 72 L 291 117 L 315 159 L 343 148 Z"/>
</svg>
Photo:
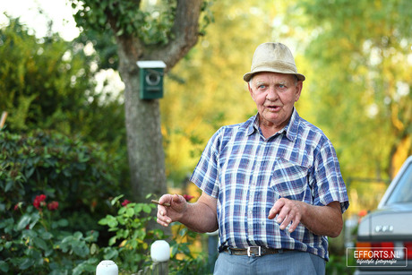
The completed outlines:
<svg viewBox="0 0 412 275">
<path fill-rule="evenodd" d="M 305 202 L 292 201 L 285 198 L 280 198 L 269 212 L 269 219 L 274 219 L 278 215 L 276 222 L 279 223 L 281 230 L 288 227 L 288 224 L 292 222 L 288 231 L 295 231 L 302 217 L 305 215 Z"/>
</svg>

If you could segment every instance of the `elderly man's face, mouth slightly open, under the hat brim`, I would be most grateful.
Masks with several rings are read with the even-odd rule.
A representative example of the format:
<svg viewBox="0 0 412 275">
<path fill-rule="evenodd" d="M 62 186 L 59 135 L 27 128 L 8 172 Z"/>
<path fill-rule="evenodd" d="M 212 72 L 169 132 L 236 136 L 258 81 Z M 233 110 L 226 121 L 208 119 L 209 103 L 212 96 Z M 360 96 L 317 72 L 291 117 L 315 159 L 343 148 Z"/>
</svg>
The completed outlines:
<svg viewBox="0 0 412 275">
<path fill-rule="evenodd" d="M 261 127 L 278 132 L 288 124 L 302 90 L 302 82 L 295 75 L 256 73 L 248 87 L 258 108 Z"/>
</svg>

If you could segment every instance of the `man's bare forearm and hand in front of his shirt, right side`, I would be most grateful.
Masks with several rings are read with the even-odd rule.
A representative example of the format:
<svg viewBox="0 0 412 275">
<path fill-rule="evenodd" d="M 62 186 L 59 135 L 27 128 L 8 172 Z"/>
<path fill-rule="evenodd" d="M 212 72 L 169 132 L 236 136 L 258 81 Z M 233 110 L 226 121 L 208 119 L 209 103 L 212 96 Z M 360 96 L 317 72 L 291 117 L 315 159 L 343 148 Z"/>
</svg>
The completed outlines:
<svg viewBox="0 0 412 275">
<path fill-rule="evenodd" d="M 339 236 L 343 228 L 343 219 L 339 202 L 330 202 L 326 206 L 310 205 L 306 202 L 279 199 L 270 210 L 269 219 L 274 219 L 285 229 L 290 222 L 289 232 L 293 232 L 299 222 L 316 235 Z"/>
</svg>

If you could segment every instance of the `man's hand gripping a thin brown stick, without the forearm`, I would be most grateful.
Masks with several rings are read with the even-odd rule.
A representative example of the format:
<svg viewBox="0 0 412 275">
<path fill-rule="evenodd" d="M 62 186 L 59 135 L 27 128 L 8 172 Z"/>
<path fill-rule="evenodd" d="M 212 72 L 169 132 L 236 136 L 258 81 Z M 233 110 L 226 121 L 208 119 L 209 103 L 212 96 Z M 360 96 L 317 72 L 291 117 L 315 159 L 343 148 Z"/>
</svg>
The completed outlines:
<svg viewBox="0 0 412 275">
<path fill-rule="evenodd" d="M 169 203 L 170 206 L 162 204 Z M 157 222 L 163 227 L 168 227 L 173 221 L 181 219 L 187 210 L 185 198 L 178 194 L 164 194 L 159 199 Z"/>
</svg>

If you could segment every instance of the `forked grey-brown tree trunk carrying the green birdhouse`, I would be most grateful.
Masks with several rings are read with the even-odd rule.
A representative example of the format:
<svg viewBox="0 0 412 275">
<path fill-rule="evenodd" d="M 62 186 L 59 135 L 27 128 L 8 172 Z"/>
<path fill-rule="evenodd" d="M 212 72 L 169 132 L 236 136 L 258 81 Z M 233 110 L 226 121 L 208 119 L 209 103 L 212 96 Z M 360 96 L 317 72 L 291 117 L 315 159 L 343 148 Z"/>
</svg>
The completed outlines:
<svg viewBox="0 0 412 275">
<path fill-rule="evenodd" d="M 162 60 L 171 69 L 197 43 L 202 0 L 178 0 L 175 39 L 167 45 L 144 45 L 131 35 L 116 36 L 119 73 L 124 82 L 125 126 L 131 171 L 131 186 L 136 202 L 144 202 L 148 193 L 159 197 L 167 193 L 165 156 L 160 125 L 159 99 L 139 98 L 138 60 Z M 116 33 L 116 19 L 108 16 Z"/>
</svg>

